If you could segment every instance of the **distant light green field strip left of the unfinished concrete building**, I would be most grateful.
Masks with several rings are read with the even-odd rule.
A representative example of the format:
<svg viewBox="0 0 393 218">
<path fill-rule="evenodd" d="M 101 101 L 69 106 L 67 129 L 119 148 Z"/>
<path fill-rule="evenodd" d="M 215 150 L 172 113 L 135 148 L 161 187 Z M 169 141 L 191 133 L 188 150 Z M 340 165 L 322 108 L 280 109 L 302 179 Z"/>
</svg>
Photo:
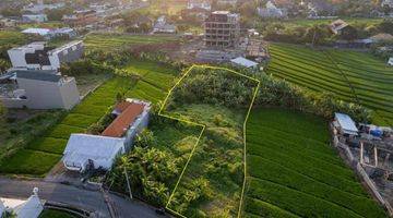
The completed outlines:
<svg viewBox="0 0 393 218">
<path fill-rule="evenodd" d="M 116 50 L 130 46 L 176 41 L 175 36 L 88 34 L 84 39 L 87 49 Z"/>
</svg>

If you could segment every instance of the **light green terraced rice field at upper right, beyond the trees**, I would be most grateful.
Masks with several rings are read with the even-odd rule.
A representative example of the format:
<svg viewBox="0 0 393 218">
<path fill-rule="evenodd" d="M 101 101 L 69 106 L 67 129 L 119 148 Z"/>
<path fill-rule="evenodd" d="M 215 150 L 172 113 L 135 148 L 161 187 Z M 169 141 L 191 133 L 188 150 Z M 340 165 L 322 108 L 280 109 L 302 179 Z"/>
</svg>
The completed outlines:
<svg viewBox="0 0 393 218">
<path fill-rule="evenodd" d="M 267 72 L 317 92 L 376 111 L 377 124 L 393 124 L 393 69 L 371 55 L 343 50 L 312 50 L 295 45 L 270 46 Z"/>
</svg>

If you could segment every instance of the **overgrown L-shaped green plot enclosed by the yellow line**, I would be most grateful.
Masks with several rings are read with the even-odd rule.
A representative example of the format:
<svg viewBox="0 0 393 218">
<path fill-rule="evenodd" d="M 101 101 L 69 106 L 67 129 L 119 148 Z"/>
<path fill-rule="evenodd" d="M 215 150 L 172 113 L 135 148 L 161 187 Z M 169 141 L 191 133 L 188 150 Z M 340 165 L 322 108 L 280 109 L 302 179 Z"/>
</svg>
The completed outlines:
<svg viewBox="0 0 393 218">
<path fill-rule="evenodd" d="M 195 66 L 178 84 L 165 113 L 205 125 L 172 191 L 168 208 L 184 216 L 237 215 L 243 180 L 242 123 L 257 82 Z"/>
</svg>

